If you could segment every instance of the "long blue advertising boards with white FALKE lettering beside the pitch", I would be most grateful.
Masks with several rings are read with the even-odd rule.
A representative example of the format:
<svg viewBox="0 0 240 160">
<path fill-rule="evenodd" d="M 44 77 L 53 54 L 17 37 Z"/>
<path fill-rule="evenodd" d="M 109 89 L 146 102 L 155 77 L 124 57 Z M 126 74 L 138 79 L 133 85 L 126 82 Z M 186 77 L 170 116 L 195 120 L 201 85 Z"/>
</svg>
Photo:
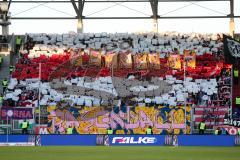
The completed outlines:
<svg viewBox="0 0 240 160">
<path fill-rule="evenodd" d="M 171 146 L 171 135 L 0 135 L 0 146 Z M 179 146 L 237 146 L 240 136 L 179 135 Z"/>
</svg>

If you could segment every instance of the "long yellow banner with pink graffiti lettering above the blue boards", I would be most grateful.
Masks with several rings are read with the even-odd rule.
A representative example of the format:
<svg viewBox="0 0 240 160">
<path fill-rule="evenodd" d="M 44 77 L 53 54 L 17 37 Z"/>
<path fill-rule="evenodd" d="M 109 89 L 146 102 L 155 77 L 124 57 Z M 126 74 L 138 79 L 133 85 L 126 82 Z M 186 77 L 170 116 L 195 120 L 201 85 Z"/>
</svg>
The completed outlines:
<svg viewBox="0 0 240 160">
<path fill-rule="evenodd" d="M 116 112 L 103 107 L 61 108 L 49 106 L 48 132 L 65 134 L 68 126 L 74 126 L 74 134 L 106 134 L 111 127 L 115 134 L 146 134 L 148 126 L 154 134 L 183 134 L 185 129 L 185 107 L 130 107 Z M 190 106 L 186 107 L 187 133 L 190 133 Z"/>
</svg>

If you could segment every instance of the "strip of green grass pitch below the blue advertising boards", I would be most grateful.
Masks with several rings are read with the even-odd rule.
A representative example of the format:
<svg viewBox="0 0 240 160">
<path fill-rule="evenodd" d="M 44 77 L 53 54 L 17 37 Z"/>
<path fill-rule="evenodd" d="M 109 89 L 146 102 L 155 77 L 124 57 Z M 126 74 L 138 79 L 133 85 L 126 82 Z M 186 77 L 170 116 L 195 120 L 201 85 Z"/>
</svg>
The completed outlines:
<svg viewBox="0 0 240 160">
<path fill-rule="evenodd" d="M 239 160 L 240 147 L 0 147 L 1 160 Z"/>
</svg>

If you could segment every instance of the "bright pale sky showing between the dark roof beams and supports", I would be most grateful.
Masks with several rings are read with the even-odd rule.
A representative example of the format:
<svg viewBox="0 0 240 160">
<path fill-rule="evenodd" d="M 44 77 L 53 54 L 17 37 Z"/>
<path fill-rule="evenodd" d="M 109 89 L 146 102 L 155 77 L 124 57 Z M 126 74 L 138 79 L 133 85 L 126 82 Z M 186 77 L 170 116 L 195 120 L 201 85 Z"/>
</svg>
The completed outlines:
<svg viewBox="0 0 240 160">
<path fill-rule="evenodd" d="M 235 0 L 235 15 L 240 15 L 240 0 Z M 229 2 L 168 2 L 159 3 L 160 16 L 224 16 L 230 13 Z M 74 17 L 71 3 L 13 3 L 13 17 Z M 86 3 L 88 17 L 151 16 L 150 3 Z M 229 19 L 160 19 L 159 31 L 229 32 Z M 236 33 L 240 33 L 240 19 L 235 19 Z M 76 32 L 77 20 L 11 20 L 10 33 L 68 33 Z M 84 20 L 84 32 L 150 32 L 153 20 Z"/>
</svg>

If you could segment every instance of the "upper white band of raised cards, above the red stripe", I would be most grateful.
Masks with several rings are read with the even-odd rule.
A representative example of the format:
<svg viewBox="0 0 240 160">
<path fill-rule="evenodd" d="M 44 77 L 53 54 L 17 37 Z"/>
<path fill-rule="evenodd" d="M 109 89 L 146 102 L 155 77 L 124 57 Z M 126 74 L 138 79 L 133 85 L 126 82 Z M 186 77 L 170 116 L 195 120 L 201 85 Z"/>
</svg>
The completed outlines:
<svg viewBox="0 0 240 160">
<path fill-rule="evenodd" d="M 52 54 L 62 54 L 64 50 L 101 49 L 101 53 L 106 52 L 126 52 L 160 53 L 164 57 L 166 53 L 178 49 L 183 54 L 185 49 L 195 50 L 197 55 L 204 53 L 216 53 L 223 45 L 219 41 L 217 34 L 182 34 L 177 32 L 166 32 L 160 34 L 128 34 L 128 33 L 81 33 L 81 34 L 29 34 L 36 42 L 30 50 L 29 58 L 39 57 L 40 55 L 51 56 Z M 205 43 L 209 44 L 206 46 Z"/>
</svg>

